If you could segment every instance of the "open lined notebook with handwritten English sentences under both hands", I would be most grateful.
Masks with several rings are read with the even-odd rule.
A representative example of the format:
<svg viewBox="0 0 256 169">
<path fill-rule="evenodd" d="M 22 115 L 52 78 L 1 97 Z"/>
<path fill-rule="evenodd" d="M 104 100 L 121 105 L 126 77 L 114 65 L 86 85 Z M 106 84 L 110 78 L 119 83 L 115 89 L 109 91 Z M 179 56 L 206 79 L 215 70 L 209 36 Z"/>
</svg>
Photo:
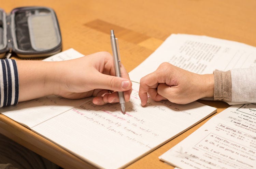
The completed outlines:
<svg viewBox="0 0 256 169">
<path fill-rule="evenodd" d="M 69 49 L 46 59 L 83 56 Z M 96 106 L 92 98 L 47 96 L 1 109 L 1 113 L 99 168 L 123 168 L 216 112 L 193 102 L 177 105 L 149 98 L 141 107 L 133 83 L 126 114 L 119 103 Z"/>
</svg>

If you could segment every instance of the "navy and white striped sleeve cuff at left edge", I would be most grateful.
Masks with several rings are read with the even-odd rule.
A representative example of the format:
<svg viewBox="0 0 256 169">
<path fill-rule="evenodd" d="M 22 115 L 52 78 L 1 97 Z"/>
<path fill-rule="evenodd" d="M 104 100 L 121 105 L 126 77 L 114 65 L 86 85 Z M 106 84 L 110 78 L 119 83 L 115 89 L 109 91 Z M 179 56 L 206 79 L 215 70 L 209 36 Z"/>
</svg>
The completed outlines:
<svg viewBox="0 0 256 169">
<path fill-rule="evenodd" d="M 19 96 L 19 78 L 14 59 L 0 59 L 0 107 L 16 105 Z"/>
</svg>

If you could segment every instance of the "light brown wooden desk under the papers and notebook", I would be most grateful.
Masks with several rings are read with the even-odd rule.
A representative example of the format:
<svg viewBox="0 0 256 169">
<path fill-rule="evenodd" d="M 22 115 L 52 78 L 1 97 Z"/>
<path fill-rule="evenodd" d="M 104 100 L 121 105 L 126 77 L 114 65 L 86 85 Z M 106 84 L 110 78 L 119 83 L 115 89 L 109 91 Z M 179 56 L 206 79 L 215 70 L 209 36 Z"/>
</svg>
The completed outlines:
<svg viewBox="0 0 256 169">
<path fill-rule="evenodd" d="M 19 6 L 52 7 L 59 20 L 63 50 L 74 48 L 84 55 L 98 51 L 111 53 L 109 31 L 114 29 L 127 71 L 140 64 L 172 33 L 207 35 L 256 46 L 255 0 L 1 0 L 0 4 L 8 13 Z M 217 113 L 228 107 L 221 101 L 200 102 L 217 107 Z M 127 168 L 173 168 L 159 161 L 158 156 L 208 119 Z M 0 115 L 0 133 L 63 168 L 92 167 L 3 115 Z"/>
</svg>

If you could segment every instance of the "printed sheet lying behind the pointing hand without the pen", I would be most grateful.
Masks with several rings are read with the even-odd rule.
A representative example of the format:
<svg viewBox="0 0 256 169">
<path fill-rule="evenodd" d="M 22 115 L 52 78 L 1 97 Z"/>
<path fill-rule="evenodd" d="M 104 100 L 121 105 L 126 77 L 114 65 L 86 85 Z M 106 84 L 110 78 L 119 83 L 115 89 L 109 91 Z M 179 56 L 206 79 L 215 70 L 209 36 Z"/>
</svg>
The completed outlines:
<svg viewBox="0 0 256 169">
<path fill-rule="evenodd" d="M 244 43 L 207 36 L 172 34 L 138 67 L 129 72 L 130 79 L 140 79 L 155 71 L 162 62 L 198 73 L 256 66 L 256 48 Z"/>
</svg>

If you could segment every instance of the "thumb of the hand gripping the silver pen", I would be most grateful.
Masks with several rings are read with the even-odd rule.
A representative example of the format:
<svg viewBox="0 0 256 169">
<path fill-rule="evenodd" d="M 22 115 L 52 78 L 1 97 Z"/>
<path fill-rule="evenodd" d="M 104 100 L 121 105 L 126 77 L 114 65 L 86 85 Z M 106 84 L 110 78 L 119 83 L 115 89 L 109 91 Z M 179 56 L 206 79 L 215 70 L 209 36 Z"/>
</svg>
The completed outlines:
<svg viewBox="0 0 256 169">
<path fill-rule="evenodd" d="M 93 80 L 92 88 L 122 92 L 131 89 L 131 86 L 132 83 L 128 79 L 99 73 L 97 79 Z"/>
</svg>

